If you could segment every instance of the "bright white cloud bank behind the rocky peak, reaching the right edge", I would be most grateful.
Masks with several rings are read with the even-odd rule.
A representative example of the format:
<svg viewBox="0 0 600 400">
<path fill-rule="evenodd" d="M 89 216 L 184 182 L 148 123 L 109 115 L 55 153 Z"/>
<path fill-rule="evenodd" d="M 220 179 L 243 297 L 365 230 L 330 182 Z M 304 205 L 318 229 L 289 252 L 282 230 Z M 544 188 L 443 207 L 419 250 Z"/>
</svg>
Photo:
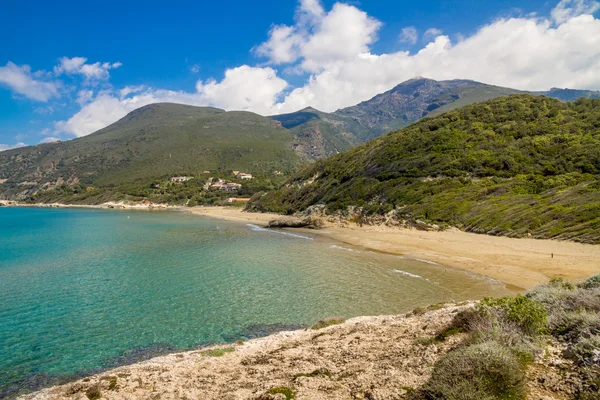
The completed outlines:
<svg viewBox="0 0 600 400">
<path fill-rule="evenodd" d="M 334 111 L 415 76 L 473 79 L 524 90 L 600 89 L 600 20 L 580 15 L 556 26 L 535 16 L 499 19 L 458 42 L 438 35 L 415 54 L 356 52 L 322 64 L 273 113 L 309 105 Z"/>
</svg>

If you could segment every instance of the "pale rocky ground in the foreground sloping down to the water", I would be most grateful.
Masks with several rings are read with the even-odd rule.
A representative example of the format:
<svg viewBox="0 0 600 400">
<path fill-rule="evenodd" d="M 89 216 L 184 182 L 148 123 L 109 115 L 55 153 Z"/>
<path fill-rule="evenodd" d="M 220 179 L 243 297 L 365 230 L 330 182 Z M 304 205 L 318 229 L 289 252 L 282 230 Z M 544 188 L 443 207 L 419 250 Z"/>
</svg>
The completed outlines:
<svg viewBox="0 0 600 400">
<path fill-rule="evenodd" d="M 464 334 L 435 336 L 472 304 L 358 317 L 322 329 L 171 354 L 21 397 L 50 399 L 403 399 Z M 327 324 L 325 324 L 327 325 Z M 547 346 L 529 369 L 530 400 L 567 399 L 570 361 Z"/>
</svg>

